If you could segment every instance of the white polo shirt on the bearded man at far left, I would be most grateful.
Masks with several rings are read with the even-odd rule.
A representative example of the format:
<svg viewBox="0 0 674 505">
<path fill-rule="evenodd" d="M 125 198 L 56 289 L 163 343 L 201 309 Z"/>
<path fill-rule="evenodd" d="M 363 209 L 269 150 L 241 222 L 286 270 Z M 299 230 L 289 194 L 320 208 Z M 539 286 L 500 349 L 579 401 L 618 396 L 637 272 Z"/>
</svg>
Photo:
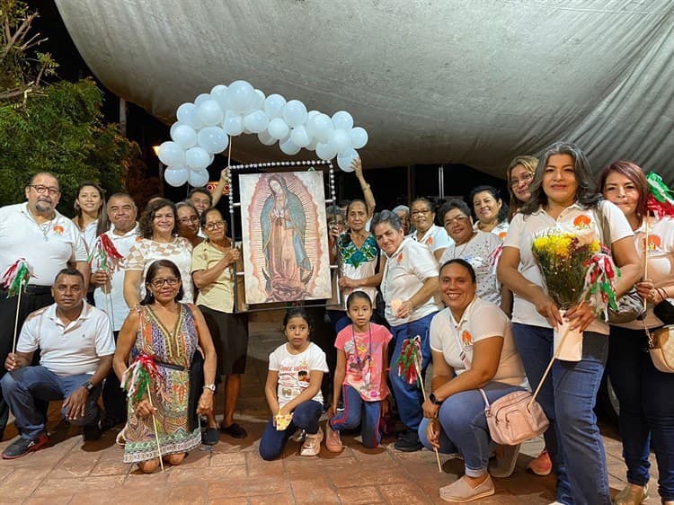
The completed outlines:
<svg viewBox="0 0 674 505">
<path fill-rule="evenodd" d="M 28 203 L 0 208 L 0 269 L 25 258 L 33 277 L 31 286 L 51 286 L 68 261 L 86 261 L 86 245 L 68 217 L 55 211 L 51 221 L 39 225 Z"/>
</svg>

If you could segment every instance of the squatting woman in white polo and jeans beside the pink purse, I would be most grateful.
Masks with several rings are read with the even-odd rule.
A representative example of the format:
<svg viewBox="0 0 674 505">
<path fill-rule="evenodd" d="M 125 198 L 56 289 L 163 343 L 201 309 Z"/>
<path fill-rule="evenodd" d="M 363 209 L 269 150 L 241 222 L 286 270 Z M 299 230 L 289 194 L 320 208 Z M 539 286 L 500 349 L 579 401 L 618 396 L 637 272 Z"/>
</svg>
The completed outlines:
<svg viewBox="0 0 674 505">
<path fill-rule="evenodd" d="M 419 435 L 426 447 L 460 453 L 466 474 L 440 488 L 445 501 L 473 501 L 494 493 L 488 473 L 490 437 L 483 394 L 492 403 L 524 382 L 524 369 L 499 307 L 476 295 L 473 267 L 449 260 L 440 267 L 439 288 L 446 309 L 430 323 L 433 358 L 432 393 L 423 404 Z M 519 446 L 501 447 L 495 477 L 515 468 Z M 501 456 L 502 455 L 502 456 Z"/>
</svg>

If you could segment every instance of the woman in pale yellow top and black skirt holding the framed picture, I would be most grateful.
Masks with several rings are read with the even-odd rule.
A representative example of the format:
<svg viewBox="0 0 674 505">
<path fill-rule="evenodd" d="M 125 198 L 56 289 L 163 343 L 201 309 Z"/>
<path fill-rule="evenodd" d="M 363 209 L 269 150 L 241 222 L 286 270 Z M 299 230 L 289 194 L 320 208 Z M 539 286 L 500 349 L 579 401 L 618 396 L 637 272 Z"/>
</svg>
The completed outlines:
<svg viewBox="0 0 674 505">
<path fill-rule="evenodd" d="M 244 439 L 246 430 L 234 421 L 248 350 L 247 315 L 235 312 L 235 269 L 241 253 L 227 237 L 227 223 L 217 208 L 209 208 L 201 214 L 201 228 L 208 240 L 194 250 L 191 270 L 194 284 L 199 288 L 197 305 L 217 350 L 217 375 L 225 376 L 225 417 L 219 430 L 235 439 Z M 237 295 L 241 297 L 243 284 L 237 288 Z M 214 445 L 218 426 L 213 413 L 207 417 L 204 443 Z"/>
</svg>

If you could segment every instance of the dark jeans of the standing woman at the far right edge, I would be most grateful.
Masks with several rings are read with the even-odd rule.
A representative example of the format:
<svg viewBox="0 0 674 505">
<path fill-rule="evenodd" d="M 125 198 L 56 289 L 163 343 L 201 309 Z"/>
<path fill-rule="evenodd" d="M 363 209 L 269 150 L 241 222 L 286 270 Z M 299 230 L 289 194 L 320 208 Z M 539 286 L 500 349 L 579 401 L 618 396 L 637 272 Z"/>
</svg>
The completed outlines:
<svg viewBox="0 0 674 505">
<path fill-rule="evenodd" d="M 611 326 L 608 377 L 620 403 L 620 435 L 627 482 L 643 486 L 650 478 L 651 438 L 658 461 L 659 492 L 674 500 L 674 374 L 653 366 L 643 330 Z"/>
</svg>

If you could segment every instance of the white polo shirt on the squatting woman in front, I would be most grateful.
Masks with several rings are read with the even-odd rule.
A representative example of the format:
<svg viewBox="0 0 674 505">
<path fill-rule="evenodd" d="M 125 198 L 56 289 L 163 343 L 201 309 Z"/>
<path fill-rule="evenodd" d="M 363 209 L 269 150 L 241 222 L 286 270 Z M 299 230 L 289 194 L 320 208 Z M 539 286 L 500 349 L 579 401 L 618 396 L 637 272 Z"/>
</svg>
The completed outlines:
<svg viewBox="0 0 674 505">
<path fill-rule="evenodd" d="M 461 359 L 454 332 L 457 332 L 466 358 L 471 362 L 475 342 L 489 338 L 503 339 L 499 368 L 492 381 L 510 385 L 524 384 L 524 368 L 512 338 L 510 319 L 498 306 L 474 297 L 461 315 L 461 321 L 457 322 L 452 312 L 446 308 L 430 322 L 430 349 L 441 352 L 447 364 L 460 374 L 466 371 L 466 365 Z"/>
</svg>

